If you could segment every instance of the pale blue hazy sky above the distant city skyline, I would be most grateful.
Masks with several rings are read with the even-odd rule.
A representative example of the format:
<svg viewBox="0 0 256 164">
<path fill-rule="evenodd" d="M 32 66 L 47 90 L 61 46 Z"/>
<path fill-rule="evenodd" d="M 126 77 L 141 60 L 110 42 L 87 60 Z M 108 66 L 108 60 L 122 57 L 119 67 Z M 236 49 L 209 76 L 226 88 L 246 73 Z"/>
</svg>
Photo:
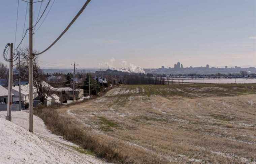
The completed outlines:
<svg viewBox="0 0 256 164">
<path fill-rule="evenodd" d="M 49 46 L 85 1 L 55 0 L 38 31 L 36 26 L 34 49 Z M 40 3 L 34 3 L 34 22 Z M 1 2 L 2 50 L 15 42 L 17 4 L 18 0 Z M 26 6 L 20 0 L 16 45 L 22 38 Z M 73 62 L 78 68 L 124 63 L 158 68 L 177 62 L 184 67 L 256 66 L 255 10 L 256 0 L 91 0 L 69 31 L 38 60 L 42 68 L 67 68 Z"/>
</svg>

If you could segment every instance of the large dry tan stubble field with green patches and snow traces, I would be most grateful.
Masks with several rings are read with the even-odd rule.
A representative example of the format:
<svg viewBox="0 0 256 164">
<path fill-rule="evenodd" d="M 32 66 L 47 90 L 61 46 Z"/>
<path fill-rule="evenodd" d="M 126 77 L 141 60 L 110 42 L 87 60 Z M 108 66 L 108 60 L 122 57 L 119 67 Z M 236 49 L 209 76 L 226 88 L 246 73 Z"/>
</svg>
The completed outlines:
<svg viewBox="0 0 256 164">
<path fill-rule="evenodd" d="M 123 85 L 58 111 L 134 163 L 256 163 L 255 84 Z"/>
</svg>

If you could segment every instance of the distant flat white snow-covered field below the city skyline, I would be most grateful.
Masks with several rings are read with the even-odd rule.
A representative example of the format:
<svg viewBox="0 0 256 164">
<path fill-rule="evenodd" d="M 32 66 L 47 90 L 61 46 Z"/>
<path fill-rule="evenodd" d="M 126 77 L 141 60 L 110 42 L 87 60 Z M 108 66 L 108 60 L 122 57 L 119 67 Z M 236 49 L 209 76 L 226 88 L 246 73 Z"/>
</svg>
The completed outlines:
<svg viewBox="0 0 256 164">
<path fill-rule="evenodd" d="M 242 79 L 184 79 L 184 80 L 179 80 L 179 79 L 173 79 L 170 81 L 175 81 L 182 83 L 215 83 L 215 84 L 228 84 L 228 83 L 237 83 L 237 84 L 250 84 L 250 83 L 256 83 L 256 79 L 247 79 L 247 78 L 242 78 Z"/>
</svg>

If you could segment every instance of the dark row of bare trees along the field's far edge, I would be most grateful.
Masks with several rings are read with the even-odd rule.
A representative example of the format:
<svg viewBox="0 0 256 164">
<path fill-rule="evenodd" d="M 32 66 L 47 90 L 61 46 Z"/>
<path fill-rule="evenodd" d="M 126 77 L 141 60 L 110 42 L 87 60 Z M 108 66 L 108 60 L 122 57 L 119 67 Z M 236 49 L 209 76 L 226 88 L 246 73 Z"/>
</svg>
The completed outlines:
<svg viewBox="0 0 256 164">
<path fill-rule="evenodd" d="M 125 84 L 152 84 L 152 85 L 164 85 L 166 79 L 163 77 L 147 77 L 139 75 L 125 76 Z"/>
</svg>

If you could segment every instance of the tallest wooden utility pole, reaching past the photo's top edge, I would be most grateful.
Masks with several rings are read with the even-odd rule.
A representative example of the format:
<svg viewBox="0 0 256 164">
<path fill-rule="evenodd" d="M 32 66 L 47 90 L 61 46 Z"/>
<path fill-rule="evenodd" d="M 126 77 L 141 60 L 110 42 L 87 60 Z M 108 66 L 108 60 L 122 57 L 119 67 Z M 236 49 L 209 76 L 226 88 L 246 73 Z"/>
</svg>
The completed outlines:
<svg viewBox="0 0 256 164">
<path fill-rule="evenodd" d="M 33 0 L 29 0 L 29 131 L 33 124 Z"/>
</svg>

